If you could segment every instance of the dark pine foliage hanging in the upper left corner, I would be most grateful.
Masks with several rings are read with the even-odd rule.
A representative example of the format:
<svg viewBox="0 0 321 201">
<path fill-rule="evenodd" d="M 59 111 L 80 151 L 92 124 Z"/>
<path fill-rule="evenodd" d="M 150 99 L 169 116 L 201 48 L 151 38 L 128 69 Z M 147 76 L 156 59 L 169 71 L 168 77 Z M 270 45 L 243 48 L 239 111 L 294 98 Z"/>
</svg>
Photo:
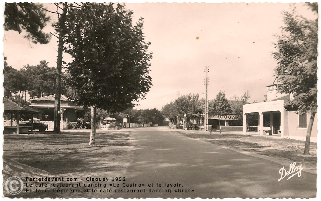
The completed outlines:
<svg viewBox="0 0 321 201">
<path fill-rule="evenodd" d="M 4 3 L 4 30 L 13 30 L 21 33 L 27 32 L 25 38 L 33 43 L 47 44 L 50 34 L 42 30 L 49 22 L 50 17 L 43 9 L 43 5 L 37 3 Z"/>
</svg>

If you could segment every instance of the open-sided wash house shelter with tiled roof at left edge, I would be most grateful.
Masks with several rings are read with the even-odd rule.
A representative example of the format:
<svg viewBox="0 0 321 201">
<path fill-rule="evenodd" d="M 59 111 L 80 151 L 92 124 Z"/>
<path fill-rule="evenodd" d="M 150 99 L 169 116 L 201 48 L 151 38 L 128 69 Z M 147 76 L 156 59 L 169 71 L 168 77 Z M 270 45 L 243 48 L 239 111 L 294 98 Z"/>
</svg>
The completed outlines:
<svg viewBox="0 0 321 201">
<path fill-rule="evenodd" d="M 17 131 L 16 134 L 19 134 L 19 130 L 22 131 L 22 128 L 19 129 L 19 114 L 20 113 L 25 113 L 25 114 L 30 114 L 31 115 L 31 122 L 33 121 L 33 114 L 39 114 L 42 113 L 42 111 L 40 111 L 37 108 L 31 107 L 25 103 L 22 102 L 18 102 L 16 100 L 12 100 L 12 99 L 7 99 L 4 100 L 4 113 L 10 113 L 11 115 L 11 125 L 10 127 L 6 127 L 7 129 L 4 130 L 13 130 L 13 126 L 12 126 L 12 118 L 13 118 L 13 113 L 16 114 L 16 120 L 17 120 Z M 29 130 L 29 127 L 27 127 L 26 129 Z M 31 131 L 33 130 L 33 127 L 31 127 Z"/>
</svg>

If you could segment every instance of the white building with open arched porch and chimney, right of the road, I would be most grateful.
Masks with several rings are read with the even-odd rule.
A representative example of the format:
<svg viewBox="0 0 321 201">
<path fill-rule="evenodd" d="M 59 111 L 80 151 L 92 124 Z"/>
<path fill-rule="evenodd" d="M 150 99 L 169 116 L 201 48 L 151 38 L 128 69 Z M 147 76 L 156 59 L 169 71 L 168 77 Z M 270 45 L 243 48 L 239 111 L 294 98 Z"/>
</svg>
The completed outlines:
<svg viewBox="0 0 321 201">
<path fill-rule="evenodd" d="M 277 92 L 277 84 L 267 86 L 266 102 L 243 105 L 243 134 L 305 140 L 310 114 L 296 114 L 297 110 L 291 108 L 291 98 L 289 94 Z M 317 142 L 317 115 L 310 141 Z"/>
</svg>

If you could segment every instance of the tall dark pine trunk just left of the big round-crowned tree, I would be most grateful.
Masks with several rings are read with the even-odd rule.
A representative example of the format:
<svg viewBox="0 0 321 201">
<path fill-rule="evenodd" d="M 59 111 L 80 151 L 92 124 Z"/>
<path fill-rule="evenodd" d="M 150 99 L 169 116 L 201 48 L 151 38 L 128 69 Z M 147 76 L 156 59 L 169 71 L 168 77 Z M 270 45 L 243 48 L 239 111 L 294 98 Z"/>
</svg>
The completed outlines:
<svg viewBox="0 0 321 201">
<path fill-rule="evenodd" d="M 56 87 L 55 87 L 55 109 L 54 109 L 54 133 L 60 133 L 60 96 L 61 96 L 61 68 L 62 68 L 62 54 L 64 50 L 64 39 L 65 35 L 64 25 L 66 21 L 67 6 L 64 4 L 63 13 L 59 18 L 59 41 L 58 41 L 58 55 L 57 55 L 57 69 L 56 69 Z"/>
</svg>

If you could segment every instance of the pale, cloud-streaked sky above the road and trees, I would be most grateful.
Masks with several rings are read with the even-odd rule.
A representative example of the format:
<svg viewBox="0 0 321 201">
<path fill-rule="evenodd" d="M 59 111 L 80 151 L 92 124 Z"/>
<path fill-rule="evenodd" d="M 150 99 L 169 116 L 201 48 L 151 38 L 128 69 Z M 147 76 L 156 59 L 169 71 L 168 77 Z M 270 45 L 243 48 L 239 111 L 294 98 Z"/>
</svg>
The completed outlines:
<svg viewBox="0 0 321 201">
<path fill-rule="evenodd" d="M 52 10 L 52 5 L 45 4 Z M 317 18 L 307 6 L 296 4 L 301 15 Z M 144 18 L 144 36 L 153 52 L 150 67 L 152 87 L 135 109 L 157 108 L 178 96 L 198 93 L 205 97 L 204 66 L 209 66 L 208 99 L 221 90 L 230 99 L 249 91 L 251 98 L 262 102 L 266 86 L 272 84 L 272 45 L 274 34 L 282 34 L 282 3 L 144 3 L 127 4 L 133 22 Z M 52 15 L 55 20 L 55 16 Z M 53 31 L 48 25 L 45 31 Z M 16 69 L 37 65 L 40 60 L 56 66 L 56 38 L 49 44 L 33 44 L 24 33 L 4 31 L 4 55 Z M 71 57 L 64 55 L 68 63 Z"/>
</svg>

